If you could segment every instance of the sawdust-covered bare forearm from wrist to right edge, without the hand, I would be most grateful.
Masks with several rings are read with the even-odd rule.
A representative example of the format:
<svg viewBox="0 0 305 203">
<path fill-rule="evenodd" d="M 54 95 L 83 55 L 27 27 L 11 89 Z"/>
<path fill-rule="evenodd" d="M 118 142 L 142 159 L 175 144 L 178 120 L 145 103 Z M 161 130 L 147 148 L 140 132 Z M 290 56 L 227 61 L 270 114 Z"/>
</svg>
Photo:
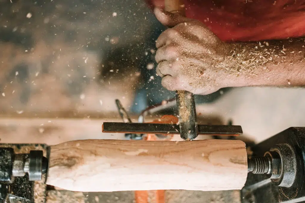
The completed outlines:
<svg viewBox="0 0 305 203">
<path fill-rule="evenodd" d="M 304 38 L 231 44 L 218 66 L 227 86 L 305 86 Z M 231 83 L 231 84 L 230 84 Z"/>
</svg>

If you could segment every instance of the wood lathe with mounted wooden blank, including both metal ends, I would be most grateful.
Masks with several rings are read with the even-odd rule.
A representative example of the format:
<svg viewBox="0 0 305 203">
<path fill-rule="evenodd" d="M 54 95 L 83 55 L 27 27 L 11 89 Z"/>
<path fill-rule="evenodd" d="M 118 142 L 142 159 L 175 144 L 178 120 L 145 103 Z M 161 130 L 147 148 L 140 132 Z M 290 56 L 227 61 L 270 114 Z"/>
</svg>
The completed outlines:
<svg viewBox="0 0 305 203">
<path fill-rule="evenodd" d="M 304 138 L 305 128 L 288 128 L 247 143 L 251 156 L 244 142 L 223 139 L 0 144 L 0 200 L 44 203 L 48 184 L 83 192 L 241 189 L 243 203 L 303 202 Z"/>
</svg>

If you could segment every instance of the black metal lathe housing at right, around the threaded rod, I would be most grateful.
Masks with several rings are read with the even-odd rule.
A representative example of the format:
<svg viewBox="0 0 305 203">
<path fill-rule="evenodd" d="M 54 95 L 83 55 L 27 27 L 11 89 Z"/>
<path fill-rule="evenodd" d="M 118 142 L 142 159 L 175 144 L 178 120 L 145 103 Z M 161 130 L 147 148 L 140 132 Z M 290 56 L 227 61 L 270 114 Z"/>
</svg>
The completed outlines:
<svg viewBox="0 0 305 203">
<path fill-rule="evenodd" d="M 305 127 L 288 128 L 251 149 L 253 156 L 280 149 L 284 167 L 278 180 L 248 173 L 241 190 L 242 203 L 305 202 Z"/>
</svg>

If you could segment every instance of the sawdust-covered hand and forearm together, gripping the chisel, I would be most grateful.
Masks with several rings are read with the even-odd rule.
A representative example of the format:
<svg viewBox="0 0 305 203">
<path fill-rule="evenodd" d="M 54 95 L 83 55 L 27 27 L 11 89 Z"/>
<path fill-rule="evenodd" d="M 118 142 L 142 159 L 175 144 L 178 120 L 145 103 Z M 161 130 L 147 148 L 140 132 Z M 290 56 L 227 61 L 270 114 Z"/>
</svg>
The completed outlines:
<svg viewBox="0 0 305 203">
<path fill-rule="evenodd" d="M 163 87 L 209 94 L 223 87 L 305 86 L 305 38 L 224 43 L 203 23 L 155 9 L 170 25 L 156 40 Z"/>
</svg>

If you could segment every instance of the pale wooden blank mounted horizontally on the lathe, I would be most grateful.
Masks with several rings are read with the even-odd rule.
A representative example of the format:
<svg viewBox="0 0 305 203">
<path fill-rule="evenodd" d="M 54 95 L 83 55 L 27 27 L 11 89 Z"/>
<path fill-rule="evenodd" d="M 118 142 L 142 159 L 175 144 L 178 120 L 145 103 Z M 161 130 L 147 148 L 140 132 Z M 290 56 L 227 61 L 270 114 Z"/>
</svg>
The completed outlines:
<svg viewBox="0 0 305 203">
<path fill-rule="evenodd" d="M 234 190 L 247 172 L 237 140 L 77 140 L 51 146 L 47 184 L 83 192 Z"/>
</svg>

